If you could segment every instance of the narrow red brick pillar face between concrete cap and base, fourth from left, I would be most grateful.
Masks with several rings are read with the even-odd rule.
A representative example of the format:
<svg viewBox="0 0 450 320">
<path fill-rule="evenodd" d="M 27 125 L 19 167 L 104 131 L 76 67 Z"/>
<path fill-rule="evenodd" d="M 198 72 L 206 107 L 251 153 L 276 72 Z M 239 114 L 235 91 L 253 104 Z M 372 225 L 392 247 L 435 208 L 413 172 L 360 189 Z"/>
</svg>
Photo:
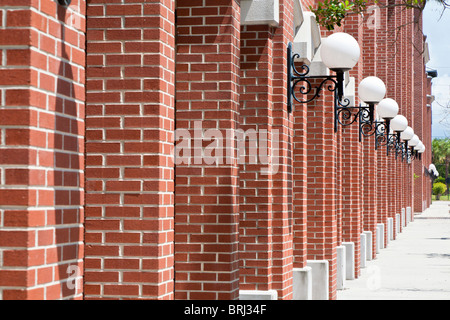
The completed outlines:
<svg viewBox="0 0 450 320">
<path fill-rule="evenodd" d="M 272 145 L 272 39 L 271 26 L 241 27 L 240 129 L 245 158 L 239 162 L 240 290 L 272 289 L 273 182 L 268 160 L 272 148 L 278 147 Z"/>
</svg>

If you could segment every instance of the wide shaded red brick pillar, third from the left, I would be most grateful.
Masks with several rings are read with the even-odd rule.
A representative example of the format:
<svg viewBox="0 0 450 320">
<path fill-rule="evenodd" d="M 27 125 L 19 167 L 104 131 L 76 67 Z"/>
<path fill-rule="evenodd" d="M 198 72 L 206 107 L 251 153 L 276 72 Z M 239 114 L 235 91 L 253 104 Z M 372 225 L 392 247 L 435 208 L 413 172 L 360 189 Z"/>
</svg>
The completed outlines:
<svg viewBox="0 0 450 320">
<path fill-rule="evenodd" d="M 177 1 L 176 127 L 193 153 L 176 165 L 176 299 L 238 298 L 239 21 L 235 0 Z M 202 157 L 213 139 L 226 153 Z"/>
</svg>

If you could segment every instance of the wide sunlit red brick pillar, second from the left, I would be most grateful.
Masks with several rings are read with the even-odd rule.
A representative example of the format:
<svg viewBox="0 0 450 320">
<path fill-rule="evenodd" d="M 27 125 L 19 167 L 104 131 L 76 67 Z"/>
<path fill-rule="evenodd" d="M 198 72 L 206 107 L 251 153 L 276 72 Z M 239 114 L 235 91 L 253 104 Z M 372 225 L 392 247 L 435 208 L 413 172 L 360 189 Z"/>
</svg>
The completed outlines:
<svg viewBox="0 0 450 320">
<path fill-rule="evenodd" d="M 174 297 L 174 3 L 87 8 L 86 299 Z"/>
</svg>

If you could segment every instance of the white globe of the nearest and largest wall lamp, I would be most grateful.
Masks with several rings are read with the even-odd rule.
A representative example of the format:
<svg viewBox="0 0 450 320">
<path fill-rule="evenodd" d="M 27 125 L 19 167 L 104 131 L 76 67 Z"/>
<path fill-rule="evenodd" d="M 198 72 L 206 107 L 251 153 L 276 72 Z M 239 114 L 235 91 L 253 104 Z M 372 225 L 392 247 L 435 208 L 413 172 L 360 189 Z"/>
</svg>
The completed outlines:
<svg viewBox="0 0 450 320">
<path fill-rule="evenodd" d="M 361 50 L 358 41 L 344 32 L 336 32 L 322 40 L 322 62 L 333 71 L 348 71 L 358 63 Z"/>
</svg>

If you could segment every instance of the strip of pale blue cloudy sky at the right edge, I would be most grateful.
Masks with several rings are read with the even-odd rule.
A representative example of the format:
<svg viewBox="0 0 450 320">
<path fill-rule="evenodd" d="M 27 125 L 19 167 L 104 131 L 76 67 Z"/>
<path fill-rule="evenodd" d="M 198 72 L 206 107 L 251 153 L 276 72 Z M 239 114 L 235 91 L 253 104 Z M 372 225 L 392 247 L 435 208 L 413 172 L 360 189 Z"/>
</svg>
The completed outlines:
<svg viewBox="0 0 450 320">
<path fill-rule="evenodd" d="M 450 137 L 450 9 L 427 1 L 423 12 L 423 34 L 427 36 L 430 61 L 427 69 L 437 70 L 432 80 L 432 137 Z M 442 16 L 441 16 L 442 14 Z M 445 110 L 442 106 L 447 106 Z"/>
</svg>

